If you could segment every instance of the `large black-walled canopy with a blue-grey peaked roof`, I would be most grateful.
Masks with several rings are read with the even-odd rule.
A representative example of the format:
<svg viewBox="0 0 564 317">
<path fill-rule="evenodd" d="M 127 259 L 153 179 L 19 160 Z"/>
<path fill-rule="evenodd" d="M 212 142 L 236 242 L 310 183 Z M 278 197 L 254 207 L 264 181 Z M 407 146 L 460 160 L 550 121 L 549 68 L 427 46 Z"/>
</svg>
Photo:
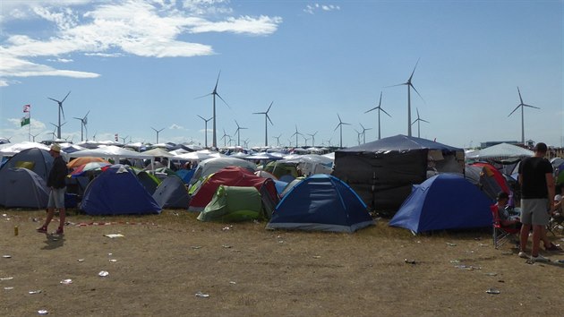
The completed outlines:
<svg viewBox="0 0 564 317">
<path fill-rule="evenodd" d="M 372 210 L 394 212 L 427 171 L 464 172 L 464 150 L 396 135 L 337 150 L 332 175 L 349 184 Z"/>
</svg>

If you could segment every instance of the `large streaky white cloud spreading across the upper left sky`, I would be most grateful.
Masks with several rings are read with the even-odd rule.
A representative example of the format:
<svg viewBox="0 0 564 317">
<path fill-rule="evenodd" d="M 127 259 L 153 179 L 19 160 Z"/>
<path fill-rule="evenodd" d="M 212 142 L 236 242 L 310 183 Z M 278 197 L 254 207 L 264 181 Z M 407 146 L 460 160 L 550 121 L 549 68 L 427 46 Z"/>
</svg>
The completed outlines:
<svg viewBox="0 0 564 317">
<path fill-rule="evenodd" d="M 179 40 L 184 34 L 203 32 L 230 32 L 247 35 L 269 35 L 278 30 L 280 17 L 240 16 L 206 19 L 201 14 L 231 13 L 226 0 L 122 0 L 119 2 L 92 2 L 90 11 L 81 13 L 85 0 L 17 2 L 4 12 L 18 13 L 19 18 L 35 17 L 56 26 L 56 33 L 46 39 L 26 34 L 7 34 L 0 43 L 0 85 L 9 85 L 8 77 L 69 76 L 98 77 L 97 73 L 59 70 L 39 64 L 37 57 L 59 63 L 73 59 L 60 56 L 115 57 L 124 55 L 146 57 L 209 56 L 215 52 L 209 45 Z M 27 4 L 28 6 L 26 6 Z M 56 6 L 58 5 L 58 6 Z M 212 10 L 216 8 L 217 10 Z M 194 13 L 197 11 L 198 13 Z M 12 16 L 14 19 L 14 16 Z M 6 21 L 4 21 L 5 23 Z"/>
</svg>

